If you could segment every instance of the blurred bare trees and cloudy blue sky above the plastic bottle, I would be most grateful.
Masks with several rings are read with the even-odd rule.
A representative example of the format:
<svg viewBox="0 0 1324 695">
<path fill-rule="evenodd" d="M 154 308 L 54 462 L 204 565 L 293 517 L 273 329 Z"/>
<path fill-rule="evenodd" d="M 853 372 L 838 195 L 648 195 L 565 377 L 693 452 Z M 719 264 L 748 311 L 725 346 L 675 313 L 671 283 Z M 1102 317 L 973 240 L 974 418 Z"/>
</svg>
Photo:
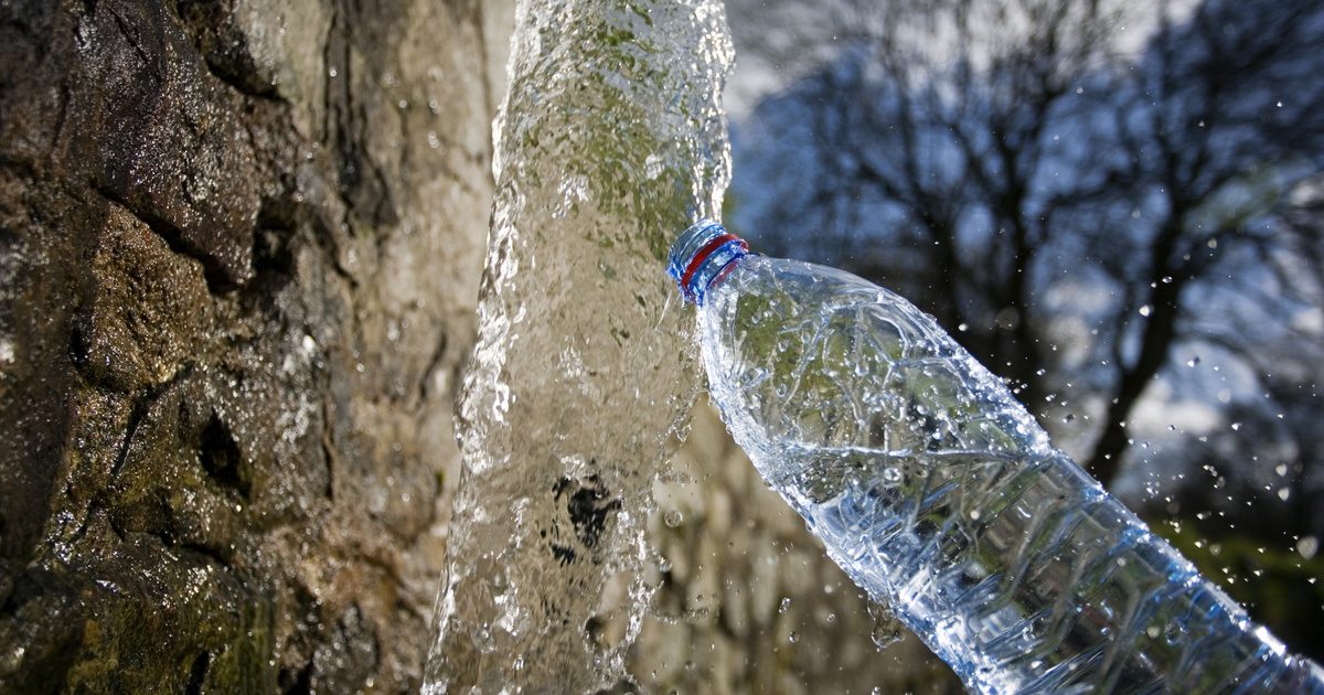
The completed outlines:
<svg viewBox="0 0 1324 695">
<path fill-rule="evenodd" d="M 1324 5 L 751 5 L 797 77 L 735 118 L 732 226 L 932 312 L 1324 655 Z"/>
</svg>

